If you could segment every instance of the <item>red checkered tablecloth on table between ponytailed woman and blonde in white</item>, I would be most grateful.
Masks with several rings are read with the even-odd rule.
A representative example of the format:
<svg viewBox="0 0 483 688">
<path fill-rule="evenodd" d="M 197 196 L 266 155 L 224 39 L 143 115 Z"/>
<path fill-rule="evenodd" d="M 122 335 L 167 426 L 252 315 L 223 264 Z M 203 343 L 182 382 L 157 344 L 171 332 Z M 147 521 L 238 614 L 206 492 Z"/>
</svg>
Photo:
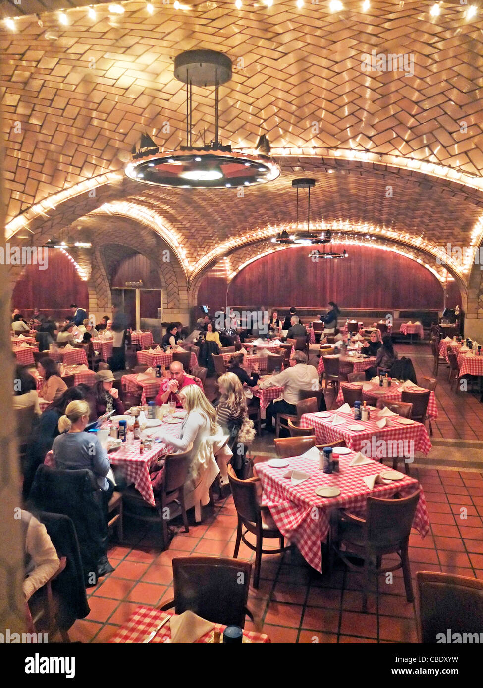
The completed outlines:
<svg viewBox="0 0 483 688">
<path fill-rule="evenodd" d="M 181 433 L 181 424 L 183 420 L 178 423 L 163 423 L 158 428 L 152 428 L 150 431 L 150 436 L 156 437 L 156 430 L 163 430 L 163 432 L 172 435 L 173 437 L 179 437 Z M 150 468 L 154 466 L 156 460 L 165 454 L 167 454 L 172 447 L 163 442 L 152 443 L 152 449 L 150 451 L 143 451 L 142 454 L 139 453 L 139 445 L 141 442 L 139 440 L 134 440 L 131 447 L 127 447 L 126 443 L 123 442 L 121 447 L 117 451 L 112 451 L 109 454 L 110 462 L 112 466 L 118 466 L 121 469 L 127 484 L 133 484 L 141 497 L 150 504 L 154 504 L 154 494 L 152 491 L 152 484 L 150 480 Z"/>
</svg>

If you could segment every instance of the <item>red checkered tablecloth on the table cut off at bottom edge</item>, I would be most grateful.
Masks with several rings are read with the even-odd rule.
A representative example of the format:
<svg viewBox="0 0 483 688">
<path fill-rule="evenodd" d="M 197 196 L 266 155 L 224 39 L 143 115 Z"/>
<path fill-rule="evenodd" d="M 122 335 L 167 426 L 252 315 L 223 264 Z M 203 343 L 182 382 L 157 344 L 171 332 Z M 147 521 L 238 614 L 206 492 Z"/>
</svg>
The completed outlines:
<svg viewBox="0 0 483 688">
<path fill-rule="evenodd" d="M 110 638 L 110 643 L 143 643 L 146 637 L 158 627 L 158 625 L 166 618 L 166 616 L 176 616 L 173 612 L 161 612 L 157 609 L 152 609 L 150 607 L 138 607 L 134 610 L 132 616 L 127 619 L 126 623 L 123 624 Z M 205 635 L 198 638 L 196 643 L 198 645 L 205 645 L 212 642 L 213 632 L 220 631 L 222 634 L 221 640 L 223 640 L 223 631 L 226 626 L 215 623 L 212 630 L 205 633 Z M 243 631 L 243 635 L 248 638 L 250 643 L 269 643 L 270 638 L 264 633 L 258 633 L 256 631 Z M 160 628 L 158 633 L 154 636 L 151 641 L 151 645 L 158 645 L 159 643 L 165 643 L 171 638 L 171 626 L 168 623 Z"/>
</svg>

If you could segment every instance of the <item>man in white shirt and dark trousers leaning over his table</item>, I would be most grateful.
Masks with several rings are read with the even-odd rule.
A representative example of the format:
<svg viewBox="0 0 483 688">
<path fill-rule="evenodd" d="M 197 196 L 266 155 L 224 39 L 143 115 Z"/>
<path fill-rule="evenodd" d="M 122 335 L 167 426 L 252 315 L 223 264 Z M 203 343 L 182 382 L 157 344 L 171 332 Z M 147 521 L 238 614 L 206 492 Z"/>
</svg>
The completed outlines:
<svg viewBox="0 0 483 688">
<path fill-rule="evenodd" d="M 296 362 L 293 367 L 282 370 L 278 375 L 271 375 L 263 380 L 258 387 L 280 386 L 283 387 L 283 399 L 272 401 L 265 411 L 265 429 L 273 429 L 271 421 L 277 413 L 289 413 L 291 416 L 297 415 L 296 403 L 300 401 L 300 390 L 319 389 L 318 372 L 313 365 L 307 365 L 307 356 L 302 351 L 296 351 L 292 357 Z M 325 401 L 322 397 L 322 407 L 325 408 Z"/>
</svg>

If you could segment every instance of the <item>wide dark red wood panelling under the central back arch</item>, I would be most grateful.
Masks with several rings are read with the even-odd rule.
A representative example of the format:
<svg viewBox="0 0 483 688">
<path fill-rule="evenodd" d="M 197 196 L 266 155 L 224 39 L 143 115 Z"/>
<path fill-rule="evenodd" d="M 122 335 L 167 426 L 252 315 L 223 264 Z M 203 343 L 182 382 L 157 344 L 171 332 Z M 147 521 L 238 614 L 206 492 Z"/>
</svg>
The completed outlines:
<svg viewBox="0 0 483 688">
<path fill-rule="evenodd" d="M 444 290 L 424 266 L 402 255 L 377 248 L 334 244 L 347 248 L 349 257 L 314 263 L 310 248 L 301 246 L 274 252 L 249 264 L 232 281 L 228 302 L 237 305 L 298 305 L 327 307 L 336 301 L 344 308 L 440 309 Z M 451 303 L 461 305 L 455 283 L 449 283 Z M 207 275 L 198 303 L 210 308 L 225 305 L 226 281 Z M 456 299 L 456 300 L 455 300 Z"/>
</svg>

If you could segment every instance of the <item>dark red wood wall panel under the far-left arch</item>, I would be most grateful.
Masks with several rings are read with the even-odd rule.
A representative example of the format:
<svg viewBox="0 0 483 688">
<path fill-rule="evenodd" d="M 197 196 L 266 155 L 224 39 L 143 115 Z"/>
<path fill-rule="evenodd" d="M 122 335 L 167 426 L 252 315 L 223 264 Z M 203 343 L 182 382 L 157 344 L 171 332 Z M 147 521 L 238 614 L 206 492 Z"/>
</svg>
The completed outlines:
<svg viewBox="0 0 483 688">
<path fill-rule="evenodd" d="M 88 283 L 81 280 L 74 264 L 60 250 L 48 249 L 48 268 L 39 266 L 25 268 L 22 277 L 14 286 L 12 308 L 28 311 L 63 311 L 71 303 L 88 308 Z"/>
</svg>

